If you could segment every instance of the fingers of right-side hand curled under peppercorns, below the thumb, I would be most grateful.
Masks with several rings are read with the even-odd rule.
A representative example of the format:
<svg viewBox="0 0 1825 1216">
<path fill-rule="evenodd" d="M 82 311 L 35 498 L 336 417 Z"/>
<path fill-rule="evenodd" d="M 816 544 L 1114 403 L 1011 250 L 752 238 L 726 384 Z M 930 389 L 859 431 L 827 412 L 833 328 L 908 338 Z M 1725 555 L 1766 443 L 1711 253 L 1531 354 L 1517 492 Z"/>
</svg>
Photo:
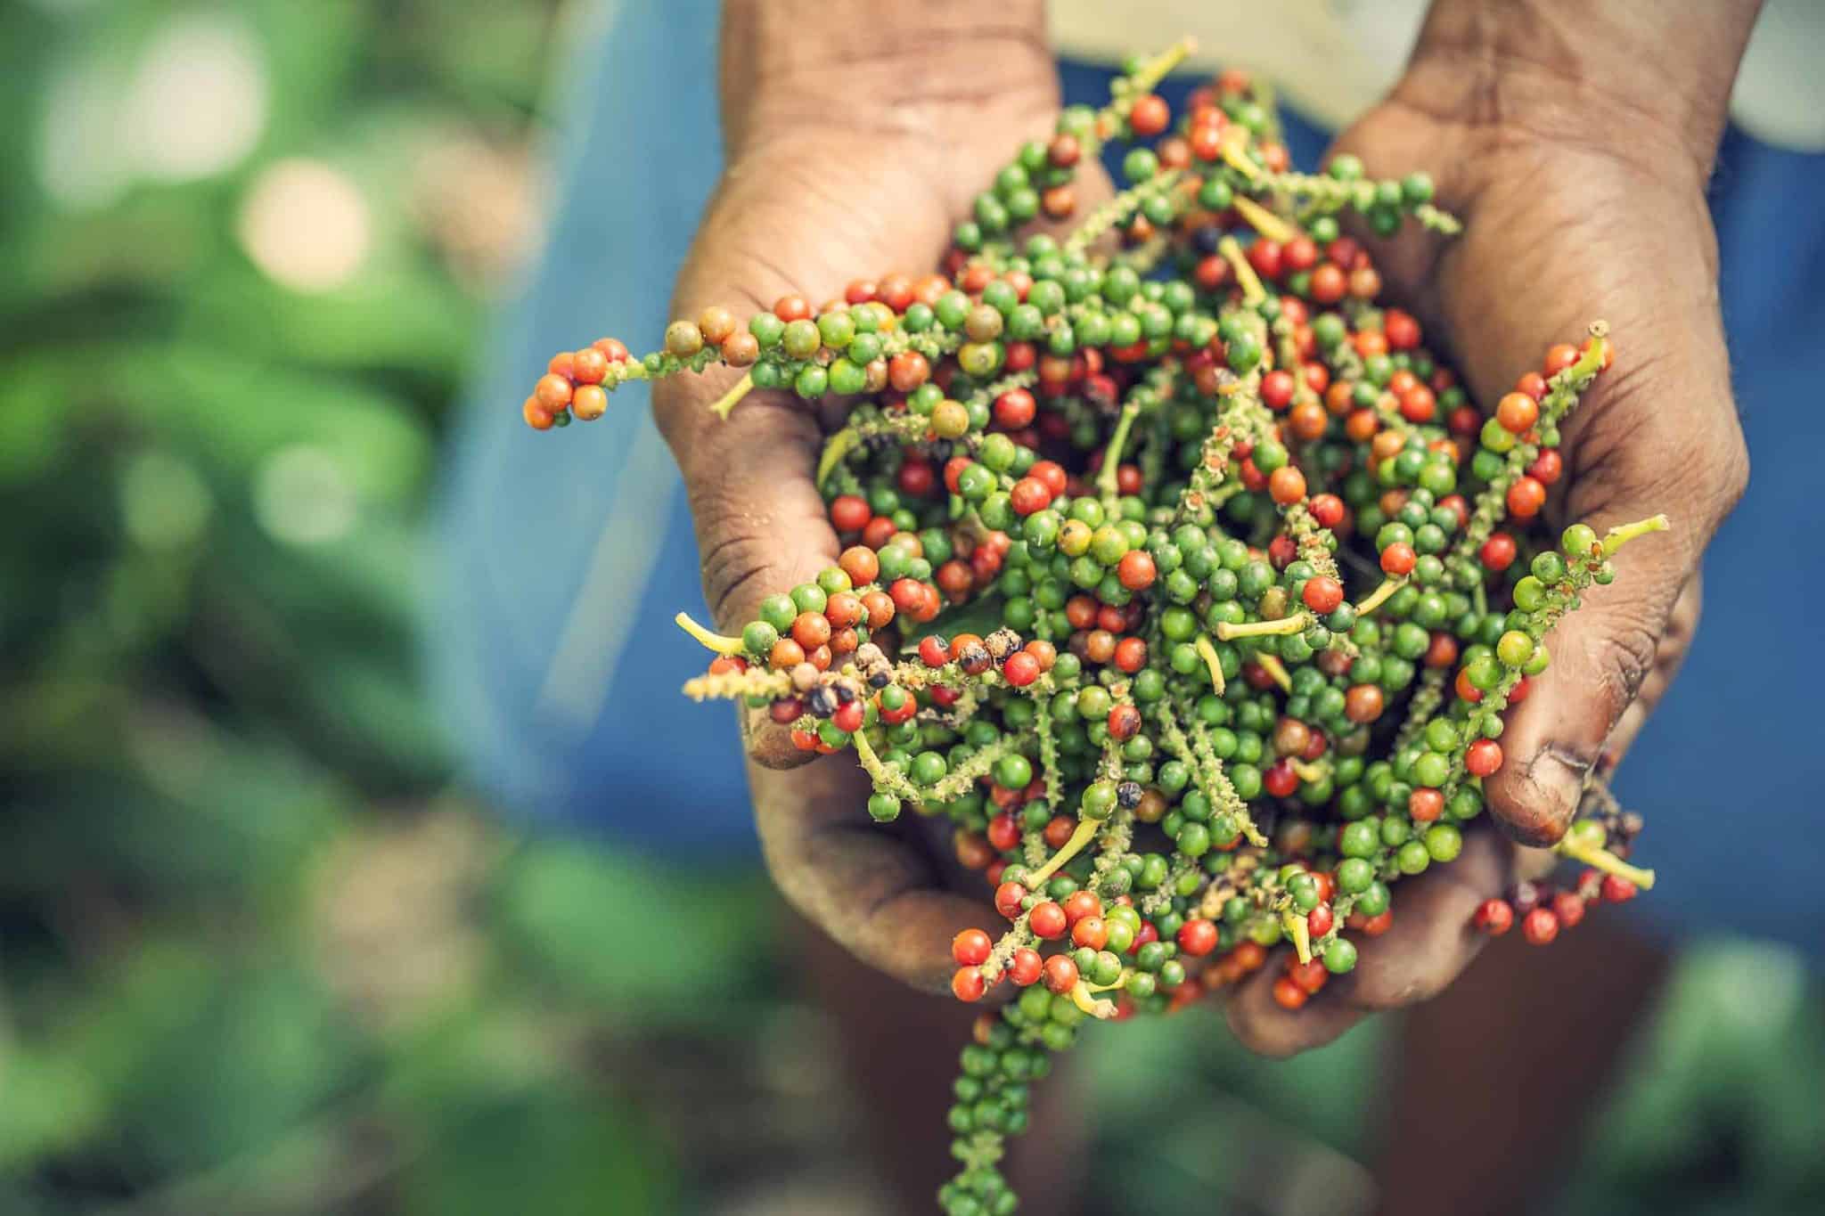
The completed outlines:
<svg viewBox="0 0 1825 1216">
<path fill-rule="evenodd" d="M 1230 997 L 1230 1028 L 1254 1052 L 1296 1056 L 1369 1014 L 1436 995 L 1487 943 L 1471 928 L 1476 906 L 1551 864 L 1549 853 L 1517 850 L 1500 833 L 1467 833 L 1456 860 L 1394 888 L 1394 922 L 1382 937 L 1358 941 L 1354 972 L 1332 977 L 1303 1008 L 1287 1010 L 1274 1001 L 1285 959 L 1270 961 Z"/>
</svg>

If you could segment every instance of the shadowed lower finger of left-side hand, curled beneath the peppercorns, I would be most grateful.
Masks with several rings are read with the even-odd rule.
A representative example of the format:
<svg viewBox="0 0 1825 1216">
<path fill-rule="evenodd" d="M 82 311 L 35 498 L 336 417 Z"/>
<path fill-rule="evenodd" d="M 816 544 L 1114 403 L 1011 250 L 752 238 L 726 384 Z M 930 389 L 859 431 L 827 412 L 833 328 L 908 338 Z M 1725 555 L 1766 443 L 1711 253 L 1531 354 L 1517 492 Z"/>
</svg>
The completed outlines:
<svg viewBox="0 0 1825 1216">
<path fill-rule="evenodd" d="M 748 768 L 766 868 L 787 901 L 871 966 L 947 990 L 951 939 L 986 921 L 982 901 L 942 890 L 918 824 L 869 819 L 867 775 L 838 757 L 799 773 Z"/>
</svg>

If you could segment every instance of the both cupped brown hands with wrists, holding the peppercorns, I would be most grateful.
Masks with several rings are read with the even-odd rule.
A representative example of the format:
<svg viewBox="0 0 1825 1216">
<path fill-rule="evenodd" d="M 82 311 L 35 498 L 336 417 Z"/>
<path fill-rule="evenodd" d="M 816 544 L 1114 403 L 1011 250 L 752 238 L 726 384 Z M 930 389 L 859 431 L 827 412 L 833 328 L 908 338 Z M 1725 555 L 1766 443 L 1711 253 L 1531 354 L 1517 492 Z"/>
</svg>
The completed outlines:
<svg viewBox="0 0 1825 1216">
<path fill-rule="evenodd" d="M 745 315 L 787 292 L 819 301 L 858 273 L 929 268 L 971 191 L 1051 129 L 1033 0 L 881 5 L 869 22 L 798 9 L 726 5 L 728 170 L 677 315 L 712 303 Z M 1402 882 L 1394 928 L 1298 1015 L 1272 1003 L 1272 966 L 1230 994 L 1230 1025 L 1256 1050 L 1307 1050 L 1442 992 L 1484 944 L 1465 930 L 1475 906 L 1542 864 L 1522 846 L 1566 831 L 1586 773 L 1628 747 L 1679 667 L 1699 560 L 1748 478 L 1703 188 L 1756 11 L 1716 0 L 1672 24 L 1653 0 L 1438 0 L 1402 82 L 1338 140 L 1378 175 L 1433 171 L 1440 204 L 1465 219 L 1456 241 L 1403 237 L 1376 255 L 1389 299 L 1422 315 L 1476 399 L 1610 321 L 1617 370 L 1566 428 L 1551 510 L 1599 531 L 1664 510 L 1674 531 L 1626 549 L 1615 585 L 1549 638 L 1553 665 L 1507 715 L 1509 762 L 1487 782 L 1506 835 L 1473 833 L 1460 860 Z M 717 421 L 703 407 L 728 379 L 662 381 L 653 407 L 690 487 L 710 607 L 739 629 L 840 545 L 810 478 L 819 417 L 757 392 Z M 953 933 L 984 922 L 982 891 L 960 893 L 916 831 L 871 824 L 852 764 L 788 768 L 803 757 L 765 718 L 746 737 L 787 899 L 863 963 L 940 990 Z"/>
</svg>

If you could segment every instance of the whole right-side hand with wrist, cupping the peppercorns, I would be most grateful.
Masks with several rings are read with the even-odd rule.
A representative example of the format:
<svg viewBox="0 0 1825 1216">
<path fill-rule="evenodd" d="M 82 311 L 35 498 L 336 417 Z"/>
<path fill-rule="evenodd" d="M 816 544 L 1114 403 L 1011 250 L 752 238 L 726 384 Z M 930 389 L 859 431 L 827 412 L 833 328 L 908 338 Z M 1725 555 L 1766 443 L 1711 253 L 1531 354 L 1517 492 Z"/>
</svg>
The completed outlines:
<svg viewBox="0 0 1825 1216">
<path fill-rule="evenodd" d="M 1571 824 L 1586 775 L 1621 757 L 1677 673 L 1699 616 L 1699 560 L 1748 479 L 1703 193 L 1728 77 L 1708 120 L 1659 100 L 1635 106 L 1597 91 L 1595 80 L 1626 88 L 1626 73 L 1586 77 L 1577 46 L 1562 51 L 1537 22 L 1491 31 L 1465 16 L 1476 7 L 1436 5 L 1405 80 L 1336 146 L 1378 177 L 1429 170 L 1440 206 L 1465 222 L 1449 242 L 1371 242 L 1389 299 L 1416 306 L 1429 345 L 1453 354 L 1482 403 L 1549 345 L 1606 319 L 1617 363 L 1564 428 L 1549 514 L 1599 534 L 1655 512 L 1674 525 L 1617 556 L 1615 583 L 1551 633 L 1551 667 L 1507 715 L 1489 811 L 1520 844 L 1546 846 Z M 1730 38 L 1716 36 L 1721 46 L 1701 49 L 1734 73 Z M 1653 80 L 1666 84 L 1663 64 Z M 1268 994 L 1278 970 L 1263 968 L 1232 997 L 1236 1032 L 1292 1054 L 1365 1012 L 1436 994 L 1486 941 L 1467 928 L 1476 904 L 1549 864 L 1540 850 L 1471 833 L 1456 862 L 1398 888 L 1394 926 L 1356 972 L 1287 1014 Z"/>
</svg>

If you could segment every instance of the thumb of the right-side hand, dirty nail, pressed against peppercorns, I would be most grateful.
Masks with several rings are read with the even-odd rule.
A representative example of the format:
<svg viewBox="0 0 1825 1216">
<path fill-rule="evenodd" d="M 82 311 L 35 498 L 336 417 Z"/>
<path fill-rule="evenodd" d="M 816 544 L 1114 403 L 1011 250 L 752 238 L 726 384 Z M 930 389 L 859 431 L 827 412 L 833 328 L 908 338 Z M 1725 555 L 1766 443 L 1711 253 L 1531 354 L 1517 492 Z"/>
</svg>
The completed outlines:
<svg viewBox="0 0 1825 1216">
<path fill-rule="evenodd" d="M 1506 762 L 1486 793 L 1524 844 L 1551 844 L 1570 828 L 1584 777 L 1655 671 L 1674 605 L 1748 479 L 1726 368 L 1648 357 L 1611 376 L 1568 427 L 1566 516 L 1602 534 L 1663 512 L 1672 531 L 1617 552 L 1615 582 L 1584 591 L 1582 607 L 1548 634 L 1551 665 L 1507 715 Z M 1670 405 L 1681 399 L 1692 407 Z"/>
</svg>

